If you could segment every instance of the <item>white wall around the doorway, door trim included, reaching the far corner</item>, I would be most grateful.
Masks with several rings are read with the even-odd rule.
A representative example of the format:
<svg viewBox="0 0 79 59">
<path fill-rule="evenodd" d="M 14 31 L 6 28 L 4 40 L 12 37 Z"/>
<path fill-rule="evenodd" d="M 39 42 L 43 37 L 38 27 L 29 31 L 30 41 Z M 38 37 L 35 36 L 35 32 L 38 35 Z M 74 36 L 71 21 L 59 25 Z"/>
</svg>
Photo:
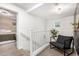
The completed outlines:
<svg viewBox="0 0 79 59">
<path fill-rule="evenodd" d="M 30 30 L 45 30 L 45 20 L 29 15 L 25 10 L 20 9 L 12 4 L 0 4 L 0 7 L 4 7 L 9 10 L 17 12 L 17 48 L 30 49 Z M 26 39 L 22 36 L 26 35 Z"/>
</svg>

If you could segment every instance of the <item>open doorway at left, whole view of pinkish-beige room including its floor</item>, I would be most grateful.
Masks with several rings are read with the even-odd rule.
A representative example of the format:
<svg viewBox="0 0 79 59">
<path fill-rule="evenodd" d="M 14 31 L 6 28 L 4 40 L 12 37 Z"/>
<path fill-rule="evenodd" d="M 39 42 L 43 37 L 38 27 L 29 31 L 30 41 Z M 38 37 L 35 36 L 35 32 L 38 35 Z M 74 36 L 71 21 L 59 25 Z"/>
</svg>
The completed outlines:
<svg viewBox="0 0 79 59">
<path fill-rule="evenodd" d="M 0 7 L 0 56 L 15 55 L 17 13 Z"/>
</svg>

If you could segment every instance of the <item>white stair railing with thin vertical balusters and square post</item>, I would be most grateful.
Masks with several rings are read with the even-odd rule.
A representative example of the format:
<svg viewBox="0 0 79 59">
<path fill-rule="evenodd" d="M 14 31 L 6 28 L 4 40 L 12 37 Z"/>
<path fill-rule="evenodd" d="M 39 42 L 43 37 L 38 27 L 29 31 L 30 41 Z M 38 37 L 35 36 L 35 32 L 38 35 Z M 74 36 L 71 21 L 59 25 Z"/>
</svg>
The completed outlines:
<svg viewBox="0 0 79 59">
<path fill-rule="evenodd" d="M 34 55 L 34 52 L 49 43 L 49 31 L 31 31 L 30 32 L 30 55 Z"/>
</svg>

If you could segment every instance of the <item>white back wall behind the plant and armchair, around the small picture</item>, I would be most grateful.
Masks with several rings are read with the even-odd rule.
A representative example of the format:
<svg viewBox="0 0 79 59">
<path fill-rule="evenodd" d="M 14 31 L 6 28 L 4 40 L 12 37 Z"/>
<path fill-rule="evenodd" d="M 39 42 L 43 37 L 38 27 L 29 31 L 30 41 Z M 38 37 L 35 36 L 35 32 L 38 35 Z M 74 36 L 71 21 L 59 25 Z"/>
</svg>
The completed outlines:
<svg viewBox="0 0 79 59">
<path fill-rule="evenodd" d="M 59 31 L 59 34 L 61 35 L 72 36 L 73 35 L 73 26 L 72 26 L 73 20 L 74 20 L 73 16 L 47 20 L 48 22 L 47 30 L 51 30 L 52 28 L 55 28 Z M 59 22 L 60 27 L 55 27 L 56 22 Z"/>
</svg>

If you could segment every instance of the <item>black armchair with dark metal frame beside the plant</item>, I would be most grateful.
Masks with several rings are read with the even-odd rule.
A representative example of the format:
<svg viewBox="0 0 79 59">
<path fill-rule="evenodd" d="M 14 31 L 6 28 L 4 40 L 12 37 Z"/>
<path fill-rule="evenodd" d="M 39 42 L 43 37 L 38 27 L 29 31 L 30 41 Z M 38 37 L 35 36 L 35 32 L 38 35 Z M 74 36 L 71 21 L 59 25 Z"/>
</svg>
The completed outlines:
<svg viewBox="0 0 79 59">
<path fill-rule="evenodd" d="M 52 37 L 51 37 L 52 38 Z M 64 56 L 68 56 L 74 52 L 74 39 L 69 36 L 58 35 L 57 41 L 52 42 L 50 38 L 50 48 L 56 47 L 64 52 Z M 72 47 L 71 47 L 72 44 Z M 53 47 L 52 47 L 53 46 Z M 68 53 L 67 50 L 71 49 Z"/>
</svg>

